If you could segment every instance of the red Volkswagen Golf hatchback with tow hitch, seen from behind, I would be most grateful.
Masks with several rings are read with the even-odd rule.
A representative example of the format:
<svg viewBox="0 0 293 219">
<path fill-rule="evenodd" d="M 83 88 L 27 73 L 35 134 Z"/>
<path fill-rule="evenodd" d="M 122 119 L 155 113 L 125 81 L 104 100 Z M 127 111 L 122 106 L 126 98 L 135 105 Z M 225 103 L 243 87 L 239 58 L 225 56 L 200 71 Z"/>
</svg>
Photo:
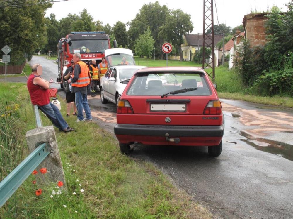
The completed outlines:
<svg viewBox="0 0 293 219">
<path fill-rule="evenodd" d="M 114 132 L 123 154 L 137 144 L 189 145 L 208 146 L 209 155 L 217 157 L 222 152 L 224 115 L 202 68 L 143 68 L 122 93 Z"/>
</svg>

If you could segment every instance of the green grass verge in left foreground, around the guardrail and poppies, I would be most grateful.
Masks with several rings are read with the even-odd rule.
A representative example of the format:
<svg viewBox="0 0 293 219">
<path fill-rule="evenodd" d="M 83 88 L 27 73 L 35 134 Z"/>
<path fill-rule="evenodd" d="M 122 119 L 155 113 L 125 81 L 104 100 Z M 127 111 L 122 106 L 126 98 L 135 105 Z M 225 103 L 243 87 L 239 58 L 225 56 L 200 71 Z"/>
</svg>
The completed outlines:
<svg viewBox="0 0 293 219">
<path fill-rule="evenodd" d="M 17 118 L 24 139 L 25 132 L 35 128 L 25 84 L 2 83 L 0 88 L 0 94 L 13 90 L 6 99 L 9 104 L 20 104 Z M 65 102 L 60 102 L 65 116 Z M 44 126 L 51 125 L 43 114 L 41 117 Z M 33 185 L 31 175 L 0 208 L 0 218 L 211 218 L 152 164 L 122 155 L 117 140 L 97 124 L 76 123 L 74 116 L 65 118 L 76 128 L 71 133 L 55 129 L 68 193 L 51 198 L 52 190 L 58 190 L 56 185 Z M 26 147 L 21 145 L 21 149 L 27 155 Z M 36 197 L 39 188 L 43 193 Z"/>
</svg>

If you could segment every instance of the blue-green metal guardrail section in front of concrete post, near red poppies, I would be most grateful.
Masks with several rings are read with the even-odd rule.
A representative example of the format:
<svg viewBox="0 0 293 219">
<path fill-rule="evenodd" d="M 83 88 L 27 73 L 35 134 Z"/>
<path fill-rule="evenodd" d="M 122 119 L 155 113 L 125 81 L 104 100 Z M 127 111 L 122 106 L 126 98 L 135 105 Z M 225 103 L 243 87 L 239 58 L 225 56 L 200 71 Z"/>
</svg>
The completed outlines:
<svg viewBox="0 0 293 219">
<path fill-rule="evenodd" d="M 5 204 L 48 154 L 50 154 L 50 151 L 47 149 L 47 143 L 42 143 L 0 182 L 0 207 Z"/>
</svg>

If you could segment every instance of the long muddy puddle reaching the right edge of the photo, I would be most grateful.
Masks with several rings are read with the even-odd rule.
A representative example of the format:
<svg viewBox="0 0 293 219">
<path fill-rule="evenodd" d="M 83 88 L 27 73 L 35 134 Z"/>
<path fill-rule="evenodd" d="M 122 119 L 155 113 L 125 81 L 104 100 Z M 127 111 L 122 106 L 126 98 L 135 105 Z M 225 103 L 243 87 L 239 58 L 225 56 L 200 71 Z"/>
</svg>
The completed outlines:
<svg viewBox="0 0 293 219">
<path fill-rule="evenodd" d="M 239 133 L 246 138 L 239 140 L 246 142 L 248 145 L 251 145 L 258 150 L 276 154 L 277 156 L 293 161 L 293 145 L 263 138 L 255 138 L 243 131 L 240 131 Z"/>
</svg>

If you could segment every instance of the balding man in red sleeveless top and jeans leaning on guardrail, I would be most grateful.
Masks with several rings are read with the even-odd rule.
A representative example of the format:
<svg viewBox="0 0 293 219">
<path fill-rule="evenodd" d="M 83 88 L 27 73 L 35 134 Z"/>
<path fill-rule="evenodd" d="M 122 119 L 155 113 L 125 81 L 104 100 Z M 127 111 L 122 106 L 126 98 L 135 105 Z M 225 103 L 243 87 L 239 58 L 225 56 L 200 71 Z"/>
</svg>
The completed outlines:
<svg viewBox="0 0 293 219">
<path fill-rule="evenodd" d="M 42 75 L 42 66 L 40 64 L 33 65 L 32 74 L 30 74 L 27 82 L 32 104 L 38 105 L 38 109 L 45 113 L 52 124 L 59 128 L 60 131 L 74 131 L 74 128 L 68 126 L 59 109 L 50 102 L 48 90 L 50 83 L 42 79 L 40 75 Z"/>
</svg>

